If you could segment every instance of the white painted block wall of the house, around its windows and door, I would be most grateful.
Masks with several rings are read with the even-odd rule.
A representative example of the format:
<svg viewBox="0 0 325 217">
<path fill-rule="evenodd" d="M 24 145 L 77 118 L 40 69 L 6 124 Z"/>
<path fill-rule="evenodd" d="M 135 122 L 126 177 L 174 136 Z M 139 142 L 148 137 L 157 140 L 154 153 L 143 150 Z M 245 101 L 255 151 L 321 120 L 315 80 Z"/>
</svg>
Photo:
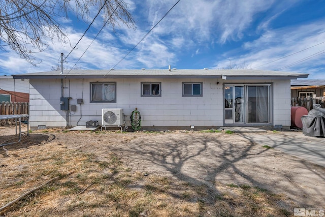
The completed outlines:
<svg viewBox="0 0 325 217">
<path fill-rule="evenodd" d="M 116 103 L 90 103 L 90 82 L 116 82 Z M 141 82 L 161 82 L 161 97 L 141 97 Z M 182 97 L 182 82 L 203 82 L 203 97 Z M 61 79 L 30 79 L 30 127 L 102 125 L 103 108 L 122 108 L 129 126 L 135 108 L 143 127 L 223 126 L 223 85 L 239 80 L 217 79 L 64 79 L 63 97 L 71 97 L 77 111 L 60 110 Z M 290 80 L 240 80 L 273 84 L 273 123 L 290 126 Z M 83 99 L 83 104 L 77 103 Z M 82 116 L 80 116 L 80 112 Z"/>
</svg>

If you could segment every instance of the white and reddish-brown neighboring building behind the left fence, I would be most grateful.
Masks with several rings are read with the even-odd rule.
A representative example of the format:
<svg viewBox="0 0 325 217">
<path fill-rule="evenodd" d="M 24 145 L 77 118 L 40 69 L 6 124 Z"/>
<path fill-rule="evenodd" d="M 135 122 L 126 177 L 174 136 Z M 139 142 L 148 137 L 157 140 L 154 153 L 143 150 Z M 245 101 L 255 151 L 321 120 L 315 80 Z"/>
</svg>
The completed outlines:
<svg viewBox="0 0 325 217">
<path fill-rule="evenodd" d="M 29 80 L 0 76 L 0 102 L 29 102 Z"/>
</svg>

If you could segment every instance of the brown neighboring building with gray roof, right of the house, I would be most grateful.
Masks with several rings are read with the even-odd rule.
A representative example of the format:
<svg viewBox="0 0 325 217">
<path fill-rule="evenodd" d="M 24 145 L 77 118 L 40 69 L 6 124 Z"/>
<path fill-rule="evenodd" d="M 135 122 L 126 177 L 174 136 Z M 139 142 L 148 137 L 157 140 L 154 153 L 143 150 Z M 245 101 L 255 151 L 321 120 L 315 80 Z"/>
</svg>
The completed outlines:
<svg viewBox="0 0 325 217">
<path fill-rule="evenodd" d="M 325 80 L 298 79 L 291 80 L 291 97 L 325 97 Z"/>
</svg>

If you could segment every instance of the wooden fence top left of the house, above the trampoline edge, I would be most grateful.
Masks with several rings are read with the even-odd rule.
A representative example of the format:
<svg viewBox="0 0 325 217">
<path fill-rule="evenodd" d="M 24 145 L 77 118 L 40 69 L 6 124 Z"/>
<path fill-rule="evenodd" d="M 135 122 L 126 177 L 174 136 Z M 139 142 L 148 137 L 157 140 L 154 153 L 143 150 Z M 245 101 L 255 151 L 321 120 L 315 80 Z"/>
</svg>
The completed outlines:
<svg viewBox="0 0 325 217">
<path fill-rule="evenodd" d="M 28 103 L 0 102 L 0 115 L 28 114 Z"/>
</svg>

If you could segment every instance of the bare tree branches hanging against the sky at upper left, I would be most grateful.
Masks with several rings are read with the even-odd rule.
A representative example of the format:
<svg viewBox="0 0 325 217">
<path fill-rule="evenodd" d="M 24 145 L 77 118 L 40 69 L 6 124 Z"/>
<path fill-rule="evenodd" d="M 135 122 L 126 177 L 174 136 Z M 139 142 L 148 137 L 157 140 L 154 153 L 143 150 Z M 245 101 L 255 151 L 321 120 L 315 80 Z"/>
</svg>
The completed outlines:
<svg viewBox="0 0 325 217">
<path fill-rule="evenodd" d="M 134 27 L 135 21 L 127 4 L 119 0 L 6 0 L 0 1 L 0 49 L 14 50 L 21 58 L 37 65 L 33 53 L 42 52 L 49 42 L 58 39 L 70 44 L 68 35 L 58 22 L 73 13 L 87 22 L 90 10 L 99 10 L 114 29 L 125 24 Z M 114 13 L 114 10 L 117 10 Z"/>
</svg>

